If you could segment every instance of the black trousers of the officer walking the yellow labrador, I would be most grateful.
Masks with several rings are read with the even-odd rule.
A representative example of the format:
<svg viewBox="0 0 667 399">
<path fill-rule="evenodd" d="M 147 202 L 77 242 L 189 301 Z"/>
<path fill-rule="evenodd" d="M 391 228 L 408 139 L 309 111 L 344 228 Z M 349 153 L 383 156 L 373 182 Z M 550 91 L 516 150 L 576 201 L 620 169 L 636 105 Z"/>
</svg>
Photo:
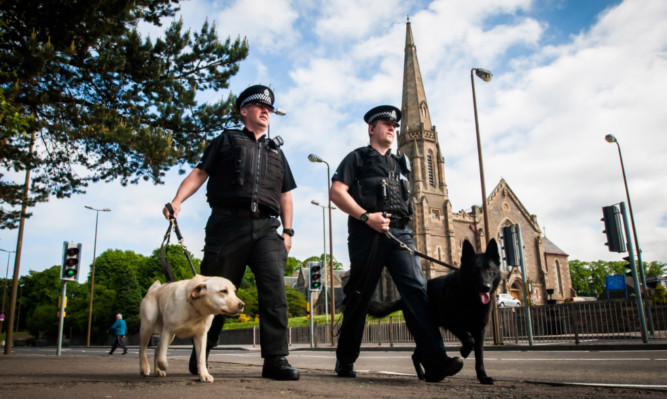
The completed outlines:
<svg viewBox="0 0 667 399">
<path fill-rule="evenodd" d="M 283 284 L 287 250 L 278 234 L 279 226 L 276 218 L 253 219 L 234 210 L 217 208 L 206 224 L 202 274 L 227 278 L 236 287 L 241 284 L 246 265 L 255 274 L 262 357 L 288 354 L 287 298 Z M 224 323 L 224 316 L 213 319 L 207 338 L 209 348 L 217 344 Z"/>
</svg>

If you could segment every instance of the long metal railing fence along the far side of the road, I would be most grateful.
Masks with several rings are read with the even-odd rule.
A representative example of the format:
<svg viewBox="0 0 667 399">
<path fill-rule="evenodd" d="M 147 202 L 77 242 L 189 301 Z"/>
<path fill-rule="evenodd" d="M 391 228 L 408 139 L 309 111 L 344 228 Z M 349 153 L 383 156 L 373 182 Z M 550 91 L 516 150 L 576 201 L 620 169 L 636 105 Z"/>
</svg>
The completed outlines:
<svg viewBox="0 0 667 399">
<path fill-rule="evenodd" d="M 634 299 L 531 306 L 529 310 L 535 343 L 579 344 L 590 341 L 641 341 L 642 338 L 639 312 Z M 648 331 L 649 339 L 667 339 L 667 305 L 652 305 L 651 316 L 653 332 Z M 650 324 L 647 322 L 647 325 Z M 334 334 L 337 334 L 339 327 L 340 323 L 335 325 Z M 529 342 L 524 307 L 498 309 L 498 328 L 503 343 L 527 345 Z M 291 328 L 290 343 L 310 343 L 309 331 L 309 327 Z M 443 339 L 446 344 L 459 344 L 449 331 L 444 332 Z M 491 323 L 487 326 L 485 339 L 487 344 L 493 343 Z M 331 343 L 331 325 L 315 326 L 314 342 L 315 345 Z M 412 336 L 400 314 L 388 321 L 369 320 L 362 341 L 366 345 L 379 346 L 412 342 Z M 259 333 L 258 330 L 225 330 L 220 343 L 259 345 Z"/>
</svg>

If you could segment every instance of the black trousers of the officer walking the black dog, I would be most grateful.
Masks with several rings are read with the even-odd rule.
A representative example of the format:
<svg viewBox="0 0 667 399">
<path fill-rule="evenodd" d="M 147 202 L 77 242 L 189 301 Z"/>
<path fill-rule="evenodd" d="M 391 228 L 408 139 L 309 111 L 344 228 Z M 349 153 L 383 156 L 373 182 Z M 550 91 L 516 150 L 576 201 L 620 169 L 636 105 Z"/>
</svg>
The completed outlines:
<svg viewBox="0 0 667 399">
<path fill-rule="evenodd" d="M 345 310 L 336 358 L 341 363 L 354 363 L 359 357 L 366 314 L 385 266 L 401 295 L 405 321 L 415 339 L 417 355 L 424 363 L 444 358 L 445 345 L 430 316 L 426 279 L 418 259 L 384 234 L 356 220 L 350 221 L 349 232 L 350 279 L 344 288 Z M 412 230 L 392 228 L 391 232 L 415 248 Z"/>
</svg>

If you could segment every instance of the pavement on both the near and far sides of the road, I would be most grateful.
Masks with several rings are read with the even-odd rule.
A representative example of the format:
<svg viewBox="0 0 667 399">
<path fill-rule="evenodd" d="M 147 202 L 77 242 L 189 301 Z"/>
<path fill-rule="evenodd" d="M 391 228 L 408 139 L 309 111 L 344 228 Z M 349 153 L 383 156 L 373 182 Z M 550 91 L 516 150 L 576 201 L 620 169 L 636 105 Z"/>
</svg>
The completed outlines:
<svg viewBox="0 0 667 399">
<path fill-rule="evenodd" d="M 337 378 L 330 369 L 301 369 L 299 381 L 273 381 L 261 377 L 259 354 L 255 364 L 239 364 L 212 361 L 209 372 L 213 383 L 200 383 L 190 375 L 187 367 L 187 351 L 190 346 L 171 346 L 167 377 L 143 377 L 139 375 L 137 349 L 130 347 L 126 356 L 106 355 L 108 347 L 63 348 L 56 356 L 55 348 L 34 352 L 17 350 L 11 355 L 0 356 L 0 397 L 2 398 L 306 398 L 324 396 L 332 398 L 664 398 L 665 391 L 632 389 L 624 387 L 565 386 L 537 384 L 523 381 L 496 381 L 495 385 L 481 385 L 475 378 L 450 377 L 441 383 L 428 384 L 414 375 L 387 375 L 364 373 L 356 379 Z M 52 351 L 51 351 L 52 349 Z M 65 350 L 68 349 L 68 350 Z M 75 349 L 89 353 L 74 354 Z M 182 349 L 172 356 L 173 349 Z M 449 349 L 449 347 L 448 347 Z M 454 347 L 452 347 L 452 350 Z M 646 350 L 667 349 L 665 342 L 635 343 L 582 343 L 580 345 L 489 345 L 486 351 L 497 350 Z M 259 352 L 259 346 L 219 346 L 215 351 Z M 290 347 L 295 351 L 333 351 L 328 345 L 310 348 L 307 344 Z M 411 345 L 393 347 L 365 345 L 362 351 L 412 351 Z M 152 363 L 152 350 L 149 361 Z M 183 355 L 183 352 L 186 355 Z M 406 353 L 406 356 L 408 354 Z M 254 356 L 253 356 L 254 357 Z M 152 364 L 151 364 L 152 366 Z M 327 365 L 330 366 L 330 365 Z"/>
</svg>

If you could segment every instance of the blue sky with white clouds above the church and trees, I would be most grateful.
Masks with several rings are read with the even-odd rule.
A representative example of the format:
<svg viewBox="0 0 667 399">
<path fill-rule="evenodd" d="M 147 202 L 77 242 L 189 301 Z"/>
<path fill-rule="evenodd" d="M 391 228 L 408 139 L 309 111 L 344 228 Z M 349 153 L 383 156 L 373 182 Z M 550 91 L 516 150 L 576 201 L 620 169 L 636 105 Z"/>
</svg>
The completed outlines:
<svg viewBox="0 0 667 399">
<path fill-rule="evenodd" d="M 481 67 L 494 75 L 475 83 L 487 194 L 505 179 L 570 260 L 622 260 L 625 254 L 607 250 L 600 220 L 603 206 L 627 201 L 618 147 L 604 139 L 613 134 L 643 260 L 667 262 L 667 2 L 184 1 L 179 18 L 193 31 L 208 18 L 221 39 L 248 39 L 231 92 L 270 85 L 287 112 L 273 115 L 271 135 L 284 139 L 298 185 L 290 256 L 329 251 L 325 210 L 311 201 L 326 204 L 327 174 L 368 144 L 366 111 L 401 106 L 407 17 L 455 212 L 482 202 L 470 83 L 471 68 Z M 161 34 L 140 29 L 153 39 Z M 329 168 L 309 162 L 311 153 Z M 162 207 L 183 177 L 173 170 L 158 186 L 96 184 L 37 205 L 25 226 L 20 274 L 60 264 L 63 241 L 82 243 L 86 266 L 108 249 L 150 255 L 168 225 Z M 111 209 L 99 212 L 96 248 L 97 213 L 85 205 Z M 198 258 L 208 215 L 203 188 L 179 214 L 184 243 Z M 336 209 L 332 217 L 333 255 L 349 268 L 347 215 Z M 15 250 L 16 241 L 17 230 L 0 231 L 0 248 Z M 0 270 L 4 262 L 11 275 L 13 256 L 0 252 Z M 82 268 L 81 282 L 87 273 Z"/>
</svg>

